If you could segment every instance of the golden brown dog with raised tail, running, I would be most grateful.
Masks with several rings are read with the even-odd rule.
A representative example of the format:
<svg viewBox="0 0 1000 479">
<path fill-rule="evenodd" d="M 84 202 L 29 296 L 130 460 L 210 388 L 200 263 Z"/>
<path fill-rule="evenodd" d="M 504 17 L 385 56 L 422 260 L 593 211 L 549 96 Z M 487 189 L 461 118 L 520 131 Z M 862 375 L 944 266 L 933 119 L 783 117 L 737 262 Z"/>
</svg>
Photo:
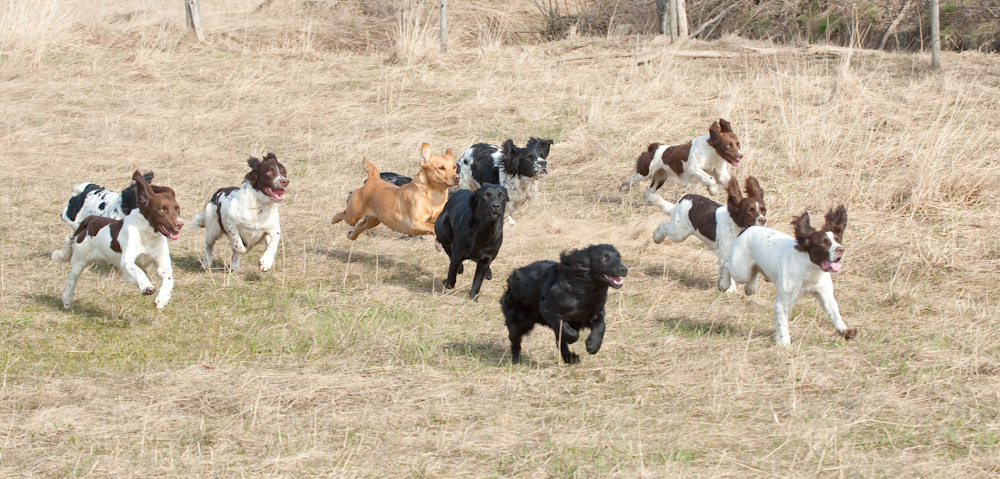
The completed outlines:
<svg viewBox="0 0 1000 479">
<path fill-rule="evenodd" d="M 404 234 L 434 234 L 434 221 L 448 201 L 448 188 L 459 181 L 451 148 L 444 155 L 432 155 L 429 143 L 421 145 L 420 173 L 403 186 L 379 178 L 378 168 L 368 158 L 364 165 L 368 179 L 351 193 L 347 209 L 333 217 L 333 224 L 346 221 L 354 226 L 347 232 L 351 240 L 379 223 Z"/>
</svg>

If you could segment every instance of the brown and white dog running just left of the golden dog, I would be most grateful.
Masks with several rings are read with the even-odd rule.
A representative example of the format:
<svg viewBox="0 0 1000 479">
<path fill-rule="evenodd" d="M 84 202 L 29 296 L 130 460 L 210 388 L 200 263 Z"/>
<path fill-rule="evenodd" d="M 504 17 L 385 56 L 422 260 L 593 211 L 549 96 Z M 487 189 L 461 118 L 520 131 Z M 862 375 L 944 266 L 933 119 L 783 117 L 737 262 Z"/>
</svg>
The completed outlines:
<svg viewBox="0 0 1000 479">
<path fill-rule="evenodd" d="M 243 185 L 217 190 L 205 210 L 194 218 L 195 226 L 205 228 L 202 263 L 206 268 L 212 267 L 212 247 L 223 237 L 229 240 L 233 250 L 230 271 L 239 271 L 240 256 L 261 241 L 266 246 L 260 257 L 260 270 L 269 271 L 274 265 L 281 238 L 278 205 L 285 201 L 287 171 L 274 153 L 268 153 L 264 161 L 250 158 L 247 164 L 250 172 L 244 177 Z"/>
</svg>

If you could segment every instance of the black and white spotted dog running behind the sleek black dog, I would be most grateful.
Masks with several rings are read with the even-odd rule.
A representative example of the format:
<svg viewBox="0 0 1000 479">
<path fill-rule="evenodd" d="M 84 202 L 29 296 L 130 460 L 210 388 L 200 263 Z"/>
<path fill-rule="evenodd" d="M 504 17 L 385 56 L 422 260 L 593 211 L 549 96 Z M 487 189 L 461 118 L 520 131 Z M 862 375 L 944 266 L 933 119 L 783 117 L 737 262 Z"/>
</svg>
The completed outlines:
<svg viewBox="0 0 1000 479">
<path fill-rule="evenodd" d="M 507 220 L 515 224 L 511 214 L 526 201 L 538 196 L 538 180 L 549 172 L 549 148 L 552 140 L 531 138 L 524 148 L 507 140 L 503 146 L 477 143 L 458 159 L 458 187 L 476 190 L 484 183 L 507 189 Z"/>
</svg>

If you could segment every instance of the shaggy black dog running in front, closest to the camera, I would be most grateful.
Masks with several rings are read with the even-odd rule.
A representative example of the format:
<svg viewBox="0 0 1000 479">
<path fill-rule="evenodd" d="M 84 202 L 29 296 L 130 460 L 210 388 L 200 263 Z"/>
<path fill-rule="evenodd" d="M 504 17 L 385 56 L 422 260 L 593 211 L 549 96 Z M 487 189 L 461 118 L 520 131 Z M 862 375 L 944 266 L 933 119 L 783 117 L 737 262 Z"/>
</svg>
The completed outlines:
<svg viewBox="0 0 1000 479">
<path fill-rule="evenodd" d="M 521 336 L 536 324 L 552 329 L 563 361 L 580 361 L 569 345 L 590 328 L 587 352 L 596 354 L 604 340 L 604 302 L 608 286 L 622 287 L 628 268 L 614 246 L 602 244 L 563 252 L 559 262 L 537 261 L 514 270 L 500 308 L 510 336 L 511 363 L 521 360 Z"/>
</svg>

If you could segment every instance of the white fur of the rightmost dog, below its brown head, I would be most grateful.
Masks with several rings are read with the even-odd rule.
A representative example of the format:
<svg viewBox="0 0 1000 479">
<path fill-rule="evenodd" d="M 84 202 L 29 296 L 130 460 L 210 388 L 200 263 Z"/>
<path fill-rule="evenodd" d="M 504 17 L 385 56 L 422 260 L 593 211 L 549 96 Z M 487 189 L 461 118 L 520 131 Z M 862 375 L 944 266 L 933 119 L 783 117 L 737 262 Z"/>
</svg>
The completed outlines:
<svg viewBox="0 0 1000 479">
<path fill-rule="evenodd" d="M 830 238 L 829 260 L 835 258 L 834 250 L 841 247 L 833 233 Z M 843 335 L 847 325 L 840 317 L 837 300 L 833 297 L 833 280 L 830 273 L 823 271 L 809 260 L 809 254 L 795 249 L 795 239 L 780 231 L 763 226 L 751 226 L 733 242 L 732 252 L 724 261 L 732 276 L 732 281 L 746 283 L 747 294 L 757 291 L 758 275 L 778 288 L 774 299 L 774 341 L 781 346 L 791 344 L 788 335 L 788 315 L 799 298 L 813 293 L 819 300 L 826 315 L 833 321 L 833 327 Z M 728 282 L 719 288 L 729 288 Z"/>
</svg>

